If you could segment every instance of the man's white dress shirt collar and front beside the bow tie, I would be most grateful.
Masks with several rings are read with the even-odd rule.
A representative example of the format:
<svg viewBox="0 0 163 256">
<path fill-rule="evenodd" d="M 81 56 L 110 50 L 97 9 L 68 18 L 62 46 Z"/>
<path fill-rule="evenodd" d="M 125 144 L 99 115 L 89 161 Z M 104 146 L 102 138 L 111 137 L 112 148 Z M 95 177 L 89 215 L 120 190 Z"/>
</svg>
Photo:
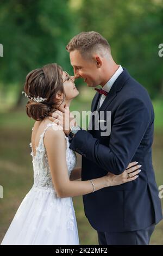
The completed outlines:
<svg viewBox="0 0 163 256">
<path fill-rule="evenodd" d="M 120 76 L 120 74 L 123 72 L 123 68 L 121 65 L 119 65 L 119 68 L 117 69 L 117 71 L 114 73 L 114 75 L 109 79 L 109 81 L 104 85 L 104 87 L 102 88 L 103 90 L 105 90 L 105 92 L 109 93 L 112 85 L 114 84 L 114 82 L 117 80 L 118 76 Z M 101 98 L 99 100 L 99 107 L 102 106 L 102 103 L 105 100 L 105 95 L 102 94 Z"/>
</svg>

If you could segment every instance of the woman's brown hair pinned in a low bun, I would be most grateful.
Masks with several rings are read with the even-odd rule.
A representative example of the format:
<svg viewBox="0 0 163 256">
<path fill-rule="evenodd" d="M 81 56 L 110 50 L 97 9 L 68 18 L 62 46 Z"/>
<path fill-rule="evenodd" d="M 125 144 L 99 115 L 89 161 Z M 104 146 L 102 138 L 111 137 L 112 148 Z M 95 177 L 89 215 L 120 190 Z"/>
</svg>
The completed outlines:
<svg viewBox="0 0 163 256">
<path fill-rule="evenodd" d="M 28 117 L 36 121 L 43 120 L 55 109 L 55 96 L 58 92 L 64 93 L 62 69 L 56 63 L 43 66 L 29 72 L 24 85 L 24 92 L 29 97 L 26 105 Z M 36 102 L 31 98 L 41 97 L 43 102 Z"/>
</svg>

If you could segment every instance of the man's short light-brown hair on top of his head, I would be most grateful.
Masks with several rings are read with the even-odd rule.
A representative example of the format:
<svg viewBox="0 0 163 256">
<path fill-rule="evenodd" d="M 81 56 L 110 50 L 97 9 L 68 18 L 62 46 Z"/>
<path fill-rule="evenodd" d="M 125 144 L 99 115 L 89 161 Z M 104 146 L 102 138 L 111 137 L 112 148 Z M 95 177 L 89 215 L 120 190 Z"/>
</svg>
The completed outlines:
<svg viewBox="0 0 163 256">
<path fill-rule="evenodd" d="M 82 32 L 74 36 L 66 46 L 68 52 L 79 50 L 82 55 L 92 53 L 93 51 L 111 52 L 108 41 L 95 31 Z"/>
</svg>

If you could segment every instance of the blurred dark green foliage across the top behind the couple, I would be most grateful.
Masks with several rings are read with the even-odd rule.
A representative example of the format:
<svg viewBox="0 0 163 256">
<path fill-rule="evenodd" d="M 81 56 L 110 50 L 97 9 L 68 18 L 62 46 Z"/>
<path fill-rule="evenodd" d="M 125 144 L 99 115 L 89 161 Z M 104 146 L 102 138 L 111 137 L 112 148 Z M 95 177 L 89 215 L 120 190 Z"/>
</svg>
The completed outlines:
<svg viewBox="0 0 163 256">
<path fill-rule="evenodd" d="M 0 99 L 14 88 L 12 103 L 20 105 L 26 75 L 47 63 L 72 73 L 65 46 L 72 36 L 92 30 L 108 39 L 116 62 L 152 98 L 162 97 L 162 28 L 163 0 L 1 0 Z"/>
</svg>

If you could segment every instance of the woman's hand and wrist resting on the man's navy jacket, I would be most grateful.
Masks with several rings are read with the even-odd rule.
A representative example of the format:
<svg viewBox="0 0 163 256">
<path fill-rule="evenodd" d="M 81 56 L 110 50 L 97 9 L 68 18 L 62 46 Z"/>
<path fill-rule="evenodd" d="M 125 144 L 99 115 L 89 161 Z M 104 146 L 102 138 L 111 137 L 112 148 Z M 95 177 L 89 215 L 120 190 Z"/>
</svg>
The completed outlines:
<svg viewBox="0 0 163 256">
<path fill-rule="evenodd" d="M 120 175 L 115 175 L 110 172 L 106 175 L 106 180 L 108 183 L 108 186 L 117 186 L 121 185 L 123 183 L 136 180 L 141 170 L 139 169 L 141 166 L 138 164 L 136 165 L 136 162 L 129 163 L 128 167 L 124 172 Z"/>
</svg>

